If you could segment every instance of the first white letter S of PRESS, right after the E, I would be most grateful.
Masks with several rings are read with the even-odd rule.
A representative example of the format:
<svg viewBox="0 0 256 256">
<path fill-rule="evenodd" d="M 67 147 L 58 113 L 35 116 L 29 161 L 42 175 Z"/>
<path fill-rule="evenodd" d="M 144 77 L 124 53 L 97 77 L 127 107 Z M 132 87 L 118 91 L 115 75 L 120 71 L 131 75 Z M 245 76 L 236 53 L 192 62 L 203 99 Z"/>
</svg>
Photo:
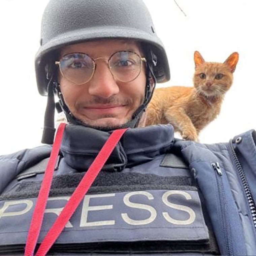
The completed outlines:
<svg viewBox="0 0 256 256">
<path fill-rule="evenodd" d="M 151 213 L 151 215 L 148 219 L 145 219 L 145 220 L 133 220 L 133 219 L 129 218 L 127 213 L 122 213 L 121 216 L 122 216 L 123 220 L 130 225 L 145 225 L 145 224 L 149 224 L 149 223 L 153 222 L 157 215 L 155 208 L 150 205 L 147 205 L 147 204 L 132 203 L 130 201 L 130 197 L 133 195 L 144 195 L 144 196 L 147 196 L 149 200 L 154 199 L 153 195 L 146 191 L 134 191 L 134 192 L 130 192 L 124 196 L 124 203 L 127 206 L 132 207 L 132 208 L 147 210 Z"/>
</svg>

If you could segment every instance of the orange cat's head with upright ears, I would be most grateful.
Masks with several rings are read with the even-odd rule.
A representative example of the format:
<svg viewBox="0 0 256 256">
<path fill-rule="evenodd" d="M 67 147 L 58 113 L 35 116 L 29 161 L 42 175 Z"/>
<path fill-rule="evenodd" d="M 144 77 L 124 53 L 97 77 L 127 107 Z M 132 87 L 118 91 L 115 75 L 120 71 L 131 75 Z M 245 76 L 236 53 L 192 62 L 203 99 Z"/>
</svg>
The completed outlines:
<svg viewBox="0 0 256 256">
<path fill-rule="evenodd" d="M 194 53 L 194 87 L 206 97 L 224 95 L 233 82 L 233 72 L 238 61 L 238 53 L 232 53 L 224 63 L 205 62 L 201 54 Z"/>
</svg>

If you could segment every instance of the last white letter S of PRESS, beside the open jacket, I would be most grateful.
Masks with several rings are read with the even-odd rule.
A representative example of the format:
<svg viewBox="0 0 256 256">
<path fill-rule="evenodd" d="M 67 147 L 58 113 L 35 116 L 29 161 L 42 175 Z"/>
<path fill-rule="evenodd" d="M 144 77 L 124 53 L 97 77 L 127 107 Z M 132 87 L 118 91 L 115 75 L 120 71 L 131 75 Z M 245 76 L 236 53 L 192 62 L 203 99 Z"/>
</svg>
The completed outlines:
<svg viewBox="0 0 256 256">
<path fill-rule="evenodd" d="M 172 224 L 176 224 L 176 225 L 189 225 L 189 224 L 193 223 L 195 221 L 196 215 L 195 215 L 195 212 L 190 207 L 185 206 L 185 205 L 179 205 L 179 204 L 171 203 L 171 202 L 168 201 L 168 196 L 175 195 L 175 194 L 176 195 L 183 195 L 183 196 L 185 196 L 185 198 L 187 200 L 192 198 L 191 195 L 189 193 L 185 192 L 185 191 L 170 190 L 170 191 L 167 191 L 163 194 L 163 196 L 162 196 L 163 202 L 167 206 L 169 206 L 173 209 L 177 209 L 177 210 L 180 210 L 180 211 L 187 212 L 190 215 L 190 217 L 187 220 L 175 220 L 175 219 L 171 218 L 168 213 L 164 212 L 163 213 L 164 218 L 168 222 L 170 222 Z"/>
</svg>

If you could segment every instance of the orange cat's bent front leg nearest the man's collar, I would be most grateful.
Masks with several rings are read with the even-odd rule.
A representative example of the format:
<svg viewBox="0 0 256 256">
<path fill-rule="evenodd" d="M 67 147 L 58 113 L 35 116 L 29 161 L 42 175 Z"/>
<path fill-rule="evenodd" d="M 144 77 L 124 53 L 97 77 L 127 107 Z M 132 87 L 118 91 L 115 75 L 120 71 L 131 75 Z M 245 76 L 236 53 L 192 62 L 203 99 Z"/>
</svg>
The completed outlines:
<svg viewBox="0 0 256 256">
<path fill-rule="evenodd" d="M 183 108 L 171 107 L 165 111 L 164 117 L 174 130 L 181 133 L 183 139 L 198 141 L 196 128 Z"/>
</svg>

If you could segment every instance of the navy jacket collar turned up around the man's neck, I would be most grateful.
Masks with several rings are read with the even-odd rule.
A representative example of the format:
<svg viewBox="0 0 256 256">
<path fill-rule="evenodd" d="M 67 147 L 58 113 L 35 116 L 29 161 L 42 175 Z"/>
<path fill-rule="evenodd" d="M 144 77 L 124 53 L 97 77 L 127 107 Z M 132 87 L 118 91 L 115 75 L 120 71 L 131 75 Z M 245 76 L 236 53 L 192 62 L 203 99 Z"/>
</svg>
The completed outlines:
<svg viewBox="0 0 256 256">
<path fill-rule="evenodd" d="M 67 125 L 61 153 L 65 162 L 78 171 L 89 168 L 111 132 Z M 153 125 L 128 129 L 111 153 L 103 169 L 122 170 L 165 154 L 173 144 L 171 125 Z"/>
</svg>

